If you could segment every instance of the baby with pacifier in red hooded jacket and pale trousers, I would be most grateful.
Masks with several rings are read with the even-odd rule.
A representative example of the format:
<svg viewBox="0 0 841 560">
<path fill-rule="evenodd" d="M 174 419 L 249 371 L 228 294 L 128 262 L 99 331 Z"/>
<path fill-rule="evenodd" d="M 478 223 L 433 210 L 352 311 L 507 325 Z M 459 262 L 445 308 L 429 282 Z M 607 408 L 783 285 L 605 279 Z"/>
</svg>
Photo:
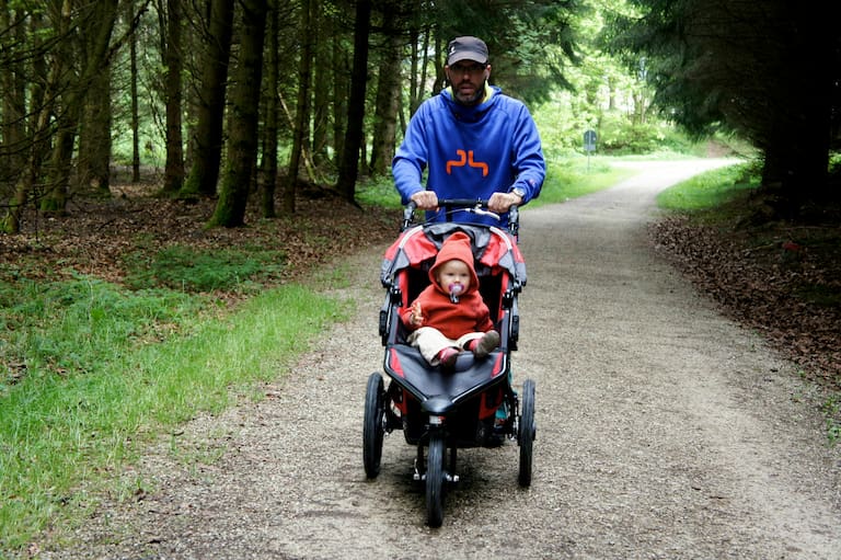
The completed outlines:
<svg viewBox="0 0 841 560">
<path fill-rule="evenodd" d="M 429 268 L 430 284 L 401 312 L 411 331 L 406 342 L 420 351 L 431 366 L 451 369 L 459 352 L 484 358 L 499 345 L 491 310 L 479 292 L 471 241 L 453 232 L 441 245 Z"/>
</svg>

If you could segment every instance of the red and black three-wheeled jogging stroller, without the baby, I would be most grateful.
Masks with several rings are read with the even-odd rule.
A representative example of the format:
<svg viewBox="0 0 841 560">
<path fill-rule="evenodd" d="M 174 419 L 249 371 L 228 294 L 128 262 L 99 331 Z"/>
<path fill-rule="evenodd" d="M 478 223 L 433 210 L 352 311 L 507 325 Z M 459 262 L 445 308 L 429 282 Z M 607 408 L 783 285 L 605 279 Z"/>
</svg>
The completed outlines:
<svg viewBox="0 0 841 560">
<path fill-rule="evenodd" d="M 439 201 L 441 212 L 492 215 L 485 201 Z M 365 471 L 380 472 L 383 436 L 400 428 L 406 443 L 417 446 L 414 480 L 426 485 L 427 524 L 443 521 L 447 485 L 458 482 L 459 448 L 496 447 L 505 438 L 519 445 L 521 487 L 531 484 L 535 437 L 534 381 L 512 386 L 511 351 L 517 350 L 517 297 L 526 285 L 526 264 L 517 247 L 518 213 L 509 212 L 508 229 L 471 222 L 414 225 L 415 206 L 404 210 L 401 235 L 387 250 L 380 279 L 387 290 L 379 330 L 385 347 L 383 370 L 368 378 L 362 430 Z M 462 352 L 452 370 L 430 366 L 419 351 L 406 344 L 407 331 L 400 309 L 411 305 L 429 284 L 428 271 L 443 241 L 456 231 L 471 239 L 480 293 L 491 309 L 500 335 L 499 347 L 484 359 Z M 449 450 L 449 458 L 447 452 Z"/>
</svg>

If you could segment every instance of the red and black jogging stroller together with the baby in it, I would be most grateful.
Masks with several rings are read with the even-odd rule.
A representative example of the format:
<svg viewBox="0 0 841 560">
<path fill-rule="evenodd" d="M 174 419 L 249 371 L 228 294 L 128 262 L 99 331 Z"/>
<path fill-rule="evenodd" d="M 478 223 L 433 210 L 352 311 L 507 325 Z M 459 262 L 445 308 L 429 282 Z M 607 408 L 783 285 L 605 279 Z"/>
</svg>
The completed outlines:
<svg viewBox="0 0 841 560">
<path fill-rule="evenodd" d="M 362 459 L 367 477 L 376 478 L 383 436 L 401 430 L 416 446 L 414 479 L 426 487 L 427 524 L 437 527 L 447 488 L 459 481 L 458 449 L 516 441 L 518 481 L 531 483 L 534 381 L 515 389 L 510 366 L 526 264 L 516 215 L 504 230 L 451 221 L 413 226 L 412 212 L 380 270 L 384 378 L 379 372 L 368 377 Z"/>
</svg>

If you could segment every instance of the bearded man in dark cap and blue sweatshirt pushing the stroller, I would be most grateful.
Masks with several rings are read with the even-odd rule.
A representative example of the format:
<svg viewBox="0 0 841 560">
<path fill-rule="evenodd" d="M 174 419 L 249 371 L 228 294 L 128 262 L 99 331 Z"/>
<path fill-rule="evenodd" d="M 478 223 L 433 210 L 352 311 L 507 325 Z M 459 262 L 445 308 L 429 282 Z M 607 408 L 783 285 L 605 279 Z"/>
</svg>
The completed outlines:
<svg viewBox="0 0 841 560">
<path fill-rule="evenodd" d="M 450 87 L 418 107 L 392 162 L 403 204 L 436 210 L 438 198 L 483 198 L 491 212 L 505 214 L 535 198 L 545 176 L 540 135 L 525 104 L 487 83 L 487 45 L 454 38 L 443 69 Z M 427 218 L 447 219 L 436 213 Z M 486 216 L 451 219 L 507 224 L 507 216 L 502 224 Z"/>
</svg>

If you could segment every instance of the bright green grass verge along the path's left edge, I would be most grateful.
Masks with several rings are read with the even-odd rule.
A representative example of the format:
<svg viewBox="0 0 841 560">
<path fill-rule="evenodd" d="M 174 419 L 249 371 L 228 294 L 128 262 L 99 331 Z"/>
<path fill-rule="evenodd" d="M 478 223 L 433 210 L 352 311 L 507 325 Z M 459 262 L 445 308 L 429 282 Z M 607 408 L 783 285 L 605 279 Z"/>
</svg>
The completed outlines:
<svg viewBox="0 0 841 560">
<path fill-rule="evenodd" d="M 5 279 L 0 299 L 0 551 L 141 488 L 115 473 L 146 443 L 254 397 L 352 306 L 287 285 L 220 315 L 208 296 L 85 277 Z"/>
</svg>

